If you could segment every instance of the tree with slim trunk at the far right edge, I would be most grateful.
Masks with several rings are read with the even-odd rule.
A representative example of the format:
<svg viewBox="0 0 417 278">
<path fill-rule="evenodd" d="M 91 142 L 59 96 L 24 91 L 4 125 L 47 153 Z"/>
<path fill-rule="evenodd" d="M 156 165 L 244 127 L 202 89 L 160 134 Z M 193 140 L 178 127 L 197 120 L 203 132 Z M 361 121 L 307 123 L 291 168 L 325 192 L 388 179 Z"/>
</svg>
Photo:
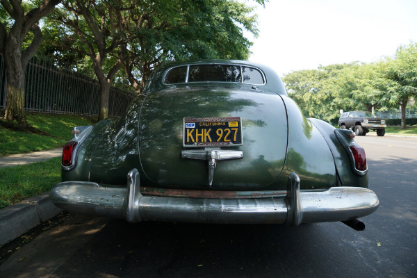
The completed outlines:
<svg viewBox="0 0 417 278">
<path fill-rule="evenodd" d="M 401 128 L 404 129 L 405 109 L 410 97 L 417 97 L 417 43 L 402 46 L 394 58 L 387 58 L 383 72 L 390 81 L 388 97 L 391 104 L 401 108 Z"/>
</svg>

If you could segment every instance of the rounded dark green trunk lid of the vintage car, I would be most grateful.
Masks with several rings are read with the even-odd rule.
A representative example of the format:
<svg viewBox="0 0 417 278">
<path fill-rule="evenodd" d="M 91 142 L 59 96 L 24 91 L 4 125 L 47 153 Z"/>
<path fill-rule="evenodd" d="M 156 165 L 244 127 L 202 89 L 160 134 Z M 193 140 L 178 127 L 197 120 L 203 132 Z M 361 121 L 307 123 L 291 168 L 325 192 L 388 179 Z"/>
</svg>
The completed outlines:
<svg viewBox="0 0 417 278">
<path fill-rule="evenodd" d="M 273 183 L 281 174 L 288 127 L 279 95 L 241 86 L 172 86 L 149 94 L 140 111 L 140 163 L 158 186 L 208 188 L 208 161 L 181 158 L 181 150 L 204 149 L 183 147 L 186 117 L 241 119 L 242 145 L 205 148 L 243 151 L 243 158 L 217 161 L 211 188 L 259 188 Z"/>
</svg>

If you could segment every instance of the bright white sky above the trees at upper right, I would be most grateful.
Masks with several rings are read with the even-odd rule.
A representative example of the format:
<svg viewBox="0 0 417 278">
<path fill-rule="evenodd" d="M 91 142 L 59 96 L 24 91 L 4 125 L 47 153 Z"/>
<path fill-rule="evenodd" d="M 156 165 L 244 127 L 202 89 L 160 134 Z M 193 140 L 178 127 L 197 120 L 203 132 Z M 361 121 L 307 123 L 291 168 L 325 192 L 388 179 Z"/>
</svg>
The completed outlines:
<svg viewBox="0 0 417 278">
<path fill-rule="evenodd" d="M 270 0 L 258 6 L 250 61 L 281 76 L 319 65 L 372 63 L 417 42 L 417 0 Z"/>
</svg>

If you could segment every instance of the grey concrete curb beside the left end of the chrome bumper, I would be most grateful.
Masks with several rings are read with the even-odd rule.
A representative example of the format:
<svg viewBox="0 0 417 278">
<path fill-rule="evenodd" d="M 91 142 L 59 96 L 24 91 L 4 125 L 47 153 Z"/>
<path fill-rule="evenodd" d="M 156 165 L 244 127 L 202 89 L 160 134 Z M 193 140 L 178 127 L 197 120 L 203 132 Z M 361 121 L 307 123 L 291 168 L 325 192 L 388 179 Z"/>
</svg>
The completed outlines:
<svg viewBox="0 0 417 278">
<path fill-rule="evenodd" d="M 0 210 L 0 245 L 22 236 L 62 211 L 49 199 L 49 193 L 31 197 Z"/>
</svg>

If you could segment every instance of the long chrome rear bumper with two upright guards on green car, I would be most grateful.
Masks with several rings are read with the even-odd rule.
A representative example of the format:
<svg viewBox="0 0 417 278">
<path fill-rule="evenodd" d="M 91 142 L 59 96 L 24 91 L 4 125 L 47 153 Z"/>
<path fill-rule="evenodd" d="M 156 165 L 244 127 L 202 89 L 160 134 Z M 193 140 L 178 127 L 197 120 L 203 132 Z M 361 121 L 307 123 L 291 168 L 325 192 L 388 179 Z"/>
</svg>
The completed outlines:
<svg viewBox="0 0 417 278">
<path fill-rule="evenodd" d="M 128 174 L 127 188 L 106 188 L 86 181 L 65 181 L 51 190 L 56 206 L 67 211 L 122 218 L 129 222 L 300 223 L 353 220 L 373 213 L 379 199 L 372 190 L 335 187 L 300 192 L 300 178 L 288 177 L 286 197 L 199 199 L 143 196 L 138 170 Z"/>
</svg>

